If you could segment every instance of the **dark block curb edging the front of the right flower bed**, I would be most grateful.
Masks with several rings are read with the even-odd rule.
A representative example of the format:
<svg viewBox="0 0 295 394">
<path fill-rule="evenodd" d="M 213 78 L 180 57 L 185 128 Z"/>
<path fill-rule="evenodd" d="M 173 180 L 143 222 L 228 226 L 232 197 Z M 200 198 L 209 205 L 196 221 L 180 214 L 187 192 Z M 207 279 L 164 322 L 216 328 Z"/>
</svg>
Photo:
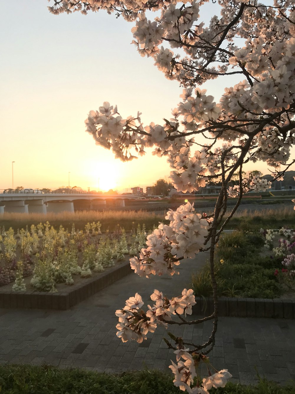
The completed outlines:
<svg viewBox="0 0 295 394">
<path fill-rule="evenodd" d="M 195 301 L 196 305 L 192 307 L 193 314 L 213 313 L 212 297 L 196 297 Z M 219 297 L 218 316 L 295 319 L 295 300 Z"/>
</svg>

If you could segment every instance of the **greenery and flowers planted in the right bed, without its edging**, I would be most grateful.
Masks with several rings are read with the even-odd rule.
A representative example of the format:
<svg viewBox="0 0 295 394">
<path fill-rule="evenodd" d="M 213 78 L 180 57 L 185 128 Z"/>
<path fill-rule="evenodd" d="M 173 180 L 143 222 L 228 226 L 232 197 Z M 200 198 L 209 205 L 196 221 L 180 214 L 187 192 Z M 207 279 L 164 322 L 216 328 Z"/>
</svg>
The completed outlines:
<svg viewBox="0 0 295 394">
<path fill-rule="evenodd" d="M 267 231 L 265 240 L 262 238 L 263 234 L 239 231 L 224 234 L 220 238 L 216 249 L 219 297 L 294 298 L 294 277 L 289 275 L 289 271 L 293 269 L 289 260 L 293 261 L 291 253 L 294 235 L 285 229 L 280 230 L 281 234 L 276 236 L 273 230 Z M 269 242 L 269 234 L 272 234 L 272 241 L 278 242 L 278 247 Z M 284 234 L 289 237 L 289 241 L 285 238 L 278 240 L 278 237 L 284 237 Z M 278 269 L 282 264 L 283 268 Z M 286 264 L 289 264 L 288 271 Z M 208 297 L 212 294 L 209 266 L 205 266 L 200 274 L 193 275 L 193 286 L 196 296 Z"/>
</svg>

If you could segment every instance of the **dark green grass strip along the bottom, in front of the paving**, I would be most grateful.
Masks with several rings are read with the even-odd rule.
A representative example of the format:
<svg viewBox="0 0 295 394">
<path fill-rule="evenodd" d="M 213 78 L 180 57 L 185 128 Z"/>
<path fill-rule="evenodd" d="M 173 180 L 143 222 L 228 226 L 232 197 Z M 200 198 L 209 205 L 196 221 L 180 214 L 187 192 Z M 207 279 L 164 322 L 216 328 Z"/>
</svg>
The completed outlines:
<svg viewBox="0 0 295 394">
<path fill-rule="evenodd" d="M 134 371 L 120 375 L 60 370 L 42 365 L 0 365 L 1 394 L 180 394 L 173 375 L 160 371 Z M 294 383 L 278 386 L 261 380 L 257 386 L 228 383 L 210 394 L 292 394 Z"/>
</svg>

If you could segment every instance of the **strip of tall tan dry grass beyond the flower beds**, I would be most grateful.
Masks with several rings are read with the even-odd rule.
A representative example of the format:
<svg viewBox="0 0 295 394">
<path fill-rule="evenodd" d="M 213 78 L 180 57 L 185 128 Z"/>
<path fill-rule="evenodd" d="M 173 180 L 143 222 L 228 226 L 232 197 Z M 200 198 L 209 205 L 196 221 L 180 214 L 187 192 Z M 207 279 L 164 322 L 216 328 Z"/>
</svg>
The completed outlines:
<svg viewBox="0 0 295 394">
<path fill-rule="evenodd" d="M 195 204 L 197 207 L 197 204 Z M 200 212 L 206 211 L 212 214 L 214 208 L 201 208 Z M 88 222 L 100 221 L 101 230 L 114 230 L 118 225 L 124 227 L 126 231 L 130 231 L 132 227 L 137 227 L 138 224 L 145 223 L 146 229 L 150 230 L 154 226 L 158 226 L 159 222 L 168 223 L 165 220 L 166 210 L 159 212 L 147 212 L 145 210 L 105 210 L 105 211 L 77 211 L 61 212 L 59 214 L 18 214 L 18 213 L 4 213 L 0 216 L 0 227 L 5 229 L 12 227 L 15 231 L 21 228 L 30 228 L 30 226 L 37 225 L 49 221 L 49 223 L 56 229 L 62 225 L 65 229 L 71 229 L 72 224 L 75 224 L 76 229 L 82 229 Z M 229 211 L 230 212 L 230 211 Z M 293 204 L 277 204 L 273 208 L 266 208 L 263 205 L 250 204 L 241 205 L 234 217 L 227 225 L 227 229 L 254 229 L 260 228 L 279 228 L 279 227 L 295 227 L 295 211 Z"/>
</svg>

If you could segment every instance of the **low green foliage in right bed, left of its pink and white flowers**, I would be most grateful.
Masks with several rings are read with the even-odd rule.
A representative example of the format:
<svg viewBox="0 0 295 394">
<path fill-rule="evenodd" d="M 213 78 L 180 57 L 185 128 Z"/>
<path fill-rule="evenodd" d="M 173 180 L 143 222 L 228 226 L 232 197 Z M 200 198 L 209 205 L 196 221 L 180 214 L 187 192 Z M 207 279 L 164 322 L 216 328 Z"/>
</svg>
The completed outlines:
<svg viewBox="0 0 295 394">
<path fill-rule="evenodd" d="M 260 235 L 240 231 L 220 238 L 215 262 L 218 296 L 276 298 L 281 294 L 274 275 L 278 259 L 259 256 L 263 245 Z M 195 296 L 212 295 L 209 264 L 193 275 L 192 283 Z"/>
</svg>

